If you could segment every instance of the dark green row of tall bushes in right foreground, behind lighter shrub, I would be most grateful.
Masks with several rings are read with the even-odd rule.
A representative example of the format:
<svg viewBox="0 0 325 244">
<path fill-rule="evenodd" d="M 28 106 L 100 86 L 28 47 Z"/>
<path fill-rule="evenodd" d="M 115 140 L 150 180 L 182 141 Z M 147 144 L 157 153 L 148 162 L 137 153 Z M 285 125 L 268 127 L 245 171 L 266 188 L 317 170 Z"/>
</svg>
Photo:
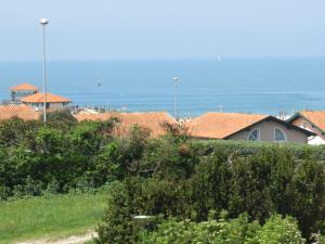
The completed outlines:
<svg viewBox="0 0 325 244">
<path fill-rule="evenodd" d="M 187 146 L 186 154 L 170 143 L 161 150 L 156 147 L 152 154 L 144 150 L 147 159 L 142 158 L 140 165 L 153 168 L 156 162 L 157 167 L 150 177 L 142 174 L 128 177 L 125 187 L 112 195 L 118 201 L 127 197 L 122 208 L 128 214 L 107 213 L 104 223 L 99 226 L 99 243 L 134 243 L 138 230 L 120 227 L 125 222 L 131 224 L 132 215 L 162 215 L 200 222 L 208 219 L 211 209 L 226 209 L 231 218 L 247 213 L 250 221 L 258 220 L 261 224 L 273 213 L 290 215 L 297 218 L 304 237 L 321 228 L 325 217 L 325 171 L 323 162 L 312 154 L 297 157 L 290 147 L 273 145 L 245 156 L 212 151 L 197 159 L 196 143 Z M 122 210 L 120 203 L 114 201 L 108 208 Z M 119 242 L 107 239 L 112 232 L 120 237 Z"/>
</svg>

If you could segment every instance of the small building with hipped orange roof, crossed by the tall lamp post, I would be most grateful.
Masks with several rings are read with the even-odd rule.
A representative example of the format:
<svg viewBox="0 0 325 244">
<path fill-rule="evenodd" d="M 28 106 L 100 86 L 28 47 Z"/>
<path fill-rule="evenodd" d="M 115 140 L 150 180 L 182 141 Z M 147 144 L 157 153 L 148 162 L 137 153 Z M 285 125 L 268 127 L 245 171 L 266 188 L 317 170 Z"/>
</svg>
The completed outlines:
<svg viewBox="0 0 325 244">
<path fill-rule="evenodd" d="M 52 93 L 47 93 L 47 108 L 49 110 L 63 110 L 70 103 L 69 99 Z M 34 107 L 36 111 L 43 110 L 44 93 L 35 93 L 22 99 L 23 104 Z"/>
</svg>

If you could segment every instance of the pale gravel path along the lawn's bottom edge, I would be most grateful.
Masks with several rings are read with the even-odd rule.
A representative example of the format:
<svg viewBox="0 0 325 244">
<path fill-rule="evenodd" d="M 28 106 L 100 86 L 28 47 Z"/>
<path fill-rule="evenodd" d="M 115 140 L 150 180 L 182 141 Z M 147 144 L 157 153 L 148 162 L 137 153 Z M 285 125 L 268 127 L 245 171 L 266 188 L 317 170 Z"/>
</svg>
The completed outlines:
<svg viewBox="0 0 325 244">
<path fill-rule="evenodd" d="M 73 235 L 66 239 L 57 239 L 57 240 L 51 240 L 51 239 L 43 239 L 43 240 L 30 240 L 26 242 L 20 242 L 17 244 L 81 244 L 87 241 L 92 240 L 92 237 L 96 236 L 96 232 L 88 231 L 84 234 L 81 235 Z"/>
</svg>

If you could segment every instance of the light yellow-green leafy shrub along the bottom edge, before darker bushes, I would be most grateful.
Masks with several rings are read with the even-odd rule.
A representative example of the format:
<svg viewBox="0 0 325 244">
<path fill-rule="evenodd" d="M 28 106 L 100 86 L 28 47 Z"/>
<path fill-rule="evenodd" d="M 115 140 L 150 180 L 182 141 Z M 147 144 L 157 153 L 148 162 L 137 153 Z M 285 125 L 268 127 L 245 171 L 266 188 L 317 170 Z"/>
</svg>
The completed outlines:
<svg viewBox="0 0 325 244">
<path fill-rule="evenodd" d="M 236 219 L 193 222 L 190 219 L 168 219 L 154 232 L 141 234 L 139 244 L 302 244 L 297 223 L 292 218 L 270 217 L 261 227 L 249 222 L 246 215 Z"/>
</svg>

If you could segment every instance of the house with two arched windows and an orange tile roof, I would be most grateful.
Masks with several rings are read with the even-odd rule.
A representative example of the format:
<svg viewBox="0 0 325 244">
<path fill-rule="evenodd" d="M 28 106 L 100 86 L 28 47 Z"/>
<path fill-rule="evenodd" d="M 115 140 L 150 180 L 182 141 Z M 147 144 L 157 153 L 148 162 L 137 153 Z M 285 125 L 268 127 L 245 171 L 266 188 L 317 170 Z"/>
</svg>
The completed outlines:
<svg viewBox="0 0 325 244">
<path fill-rule="evenodd" d="M 188 136 L 198 139 L 307 143 L 312 131 L 273 116 L 207 113 L 184 123 Z"/>
</svg>

